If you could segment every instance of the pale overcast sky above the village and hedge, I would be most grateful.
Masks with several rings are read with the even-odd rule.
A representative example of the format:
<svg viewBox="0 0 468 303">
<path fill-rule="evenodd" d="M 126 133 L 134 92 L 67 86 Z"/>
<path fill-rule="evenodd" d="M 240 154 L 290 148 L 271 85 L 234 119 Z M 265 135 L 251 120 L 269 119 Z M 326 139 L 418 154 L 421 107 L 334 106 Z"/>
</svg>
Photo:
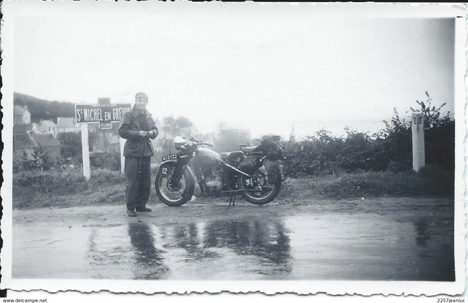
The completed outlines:
<svg viewBox="0 0 468 303">
<path fill-rule="evenodd" d="M 16 92 L 128 103 L 145 91 L 155 117 L 185 116 L 202 132 L 223 120 L 253 136 L 287 136 L 293 124 L 297 136 L 343 125 L 376 131 L 425 91 L 454 111 L 450 18 L 324 16 L 275 4 L 88 7 L 15 19 Z"/>
</svg>

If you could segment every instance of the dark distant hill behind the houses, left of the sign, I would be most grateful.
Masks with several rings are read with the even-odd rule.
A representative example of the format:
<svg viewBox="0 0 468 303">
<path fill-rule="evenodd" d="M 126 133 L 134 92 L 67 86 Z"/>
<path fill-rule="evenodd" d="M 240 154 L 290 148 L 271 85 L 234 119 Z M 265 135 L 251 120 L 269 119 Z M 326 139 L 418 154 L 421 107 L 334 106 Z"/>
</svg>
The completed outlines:
<svg viewBox="0 0 468 303">
<path fill-rule="evenodd" d="M 13 93 L 14 105 L 26 105 L 31 113 L 31 123 L 40 120 L 54 120 L 57 117 L 74 117 L 75 103 L 63 101 L 49 101 L 33 96 Z"/>
</svg>

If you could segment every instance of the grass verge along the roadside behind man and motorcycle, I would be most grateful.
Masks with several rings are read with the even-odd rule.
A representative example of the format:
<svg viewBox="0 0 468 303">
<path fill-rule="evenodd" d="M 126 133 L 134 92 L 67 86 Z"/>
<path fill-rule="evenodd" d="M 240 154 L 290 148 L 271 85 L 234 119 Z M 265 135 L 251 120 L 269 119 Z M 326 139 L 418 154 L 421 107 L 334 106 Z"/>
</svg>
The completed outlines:
<svg viewBox="0 0 468 303">
<path fill-rule="evenodd" d="M 287 178 L 279 199 L 311 197 L 344 199 L 382 196 L 453 197 L 453 172 L 434 167 L 413 171 L 359 172 L 326 177 Z M 158 201 L 154 191 L 150 200 Z M 197 191 L 195 194 L 197 195 Z M 199 194 L 199 193 L 198 193 Z M 125 179 L 117 171 L 94 170 L 86 180 L 80 170 L 60 170 L 13 175 L 13 207 L 71 207 L 124 205 Z"/>
</svg>

